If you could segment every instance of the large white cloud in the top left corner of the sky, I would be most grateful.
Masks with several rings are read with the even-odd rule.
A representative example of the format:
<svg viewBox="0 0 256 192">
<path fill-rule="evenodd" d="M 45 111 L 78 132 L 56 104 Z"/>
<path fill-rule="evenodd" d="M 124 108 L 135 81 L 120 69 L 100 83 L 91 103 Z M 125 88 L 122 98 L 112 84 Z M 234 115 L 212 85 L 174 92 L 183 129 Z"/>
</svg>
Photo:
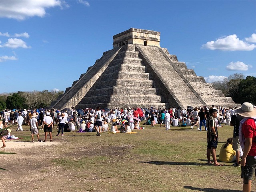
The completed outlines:
<svg viewBox="0 0 256 192">
<path fill-rule="evenodd" d="M 62 7 L 66 2 L 62 0 L 4 0 L 1 1 L 0 17 L 24 20 L 28 17 L 43 17 L 45 9 Z"/>
</svg>

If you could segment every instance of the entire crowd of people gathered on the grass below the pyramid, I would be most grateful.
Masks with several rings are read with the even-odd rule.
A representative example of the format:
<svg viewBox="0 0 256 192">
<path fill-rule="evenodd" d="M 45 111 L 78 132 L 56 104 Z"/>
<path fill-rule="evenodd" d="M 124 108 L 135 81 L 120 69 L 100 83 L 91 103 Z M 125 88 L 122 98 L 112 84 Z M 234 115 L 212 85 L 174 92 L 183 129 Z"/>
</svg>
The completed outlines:
<svg viewBox="0 0 256 192">
<path fill-rule="evenodd" d="M 64 132 L 101 132 L 131 133 L 134 129 L 144 129 L 140 122 L 151 127 L 160 126 L 170 130 L 171 126 L 189 126 L 198 131 L 207 131 L 207 164 L 223 166 L 217 162 L 216 148 L 218 145 L 218 128 L 221 124 L 234 126 L 234 135 L 228 138 L 226 144 L 220 148 L 219 160 L 221 162 L 233 162 L 233 166 L 242 165 L 242 178 L 244 178 L 244 191 L 250 191 L 252 174 L 256 168 L 256 106 L 251 103 L 242 104 L 241 108 L 223 108 L 221 106 L 199 106 L 187 109 L 169 108 L 86 108 L 76 110 L 74 107 L 64 110 L 46 110 L 43 108 L 26 110 L 4 110 L 0 112 L 0 129 L 8 128 L 8 124 L 16 125 L 16 131 L 23 131 L 22 125 L 28 124 L 31 130 L 32 142 L 36 134 L 38 142 L 41 142 L 38 130 L 45 132 L 46 142 L 49 133 L 52 142 L 52 129 L 57 128 L 56 136 L 64 135 Z M 120 125 L 118 129 L 117 125 Z M 110 126 L 110 129 L 109 129 Z M 61 132 L 61 133 L 60 133 Z M 3 142 L 1 148 L 6 147 L 4 136 L 0 135 Z M 212 155 L 213 161 L 210 157 Z M 240 158 L 242 160 L 240 161 Z"/>
</svg>

